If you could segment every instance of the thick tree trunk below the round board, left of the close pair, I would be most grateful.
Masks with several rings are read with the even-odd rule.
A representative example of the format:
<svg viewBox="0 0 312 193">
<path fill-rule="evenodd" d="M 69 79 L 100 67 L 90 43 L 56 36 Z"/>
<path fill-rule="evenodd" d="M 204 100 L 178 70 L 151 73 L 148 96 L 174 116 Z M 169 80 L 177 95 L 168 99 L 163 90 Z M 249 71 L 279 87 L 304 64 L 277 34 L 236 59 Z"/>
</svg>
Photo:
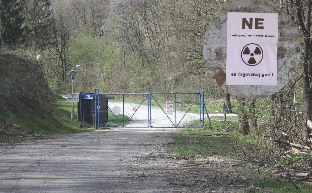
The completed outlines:
<svg viewBox="0 0 312 193">
<path fill-rule="evenodd" d="M 249 132 L 248 119 L 245 112 L 245 98 L 237 97 L 238 131 L 247 135 Z"/>
</svg>

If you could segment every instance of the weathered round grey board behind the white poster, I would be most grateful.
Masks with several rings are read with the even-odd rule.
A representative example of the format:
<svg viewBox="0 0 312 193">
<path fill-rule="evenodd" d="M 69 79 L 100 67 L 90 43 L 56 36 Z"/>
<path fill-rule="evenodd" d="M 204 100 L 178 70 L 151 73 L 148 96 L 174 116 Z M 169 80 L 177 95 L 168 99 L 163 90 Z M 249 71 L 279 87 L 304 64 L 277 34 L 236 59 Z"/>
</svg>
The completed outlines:
<svg viewBox="0 0 312 193">
<path fill-rule="evenodd" d="M 227 12 L 279 14 L 277 86 L 226 85 Z M 273 3 L 265 0 L 240 0 L 213 17 L 205 34 L 203 55 L 209 74 L 225 92 L 244 98 L 261 98 L 279 91 L 294 75 L 300 60 L 300 37 L 293 21 Z"/>
</svg>

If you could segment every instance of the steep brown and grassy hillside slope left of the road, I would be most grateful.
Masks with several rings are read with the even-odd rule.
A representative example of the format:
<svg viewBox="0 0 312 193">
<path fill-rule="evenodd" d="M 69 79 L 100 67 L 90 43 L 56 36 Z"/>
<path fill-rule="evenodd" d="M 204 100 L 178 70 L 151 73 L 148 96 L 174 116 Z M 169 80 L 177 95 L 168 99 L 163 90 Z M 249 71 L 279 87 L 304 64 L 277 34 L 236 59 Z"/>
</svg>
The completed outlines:
<svg viewBox="0 0 312 193">
<path fill-rule="evenodd" d="M 0 140 L 29 134 L 80 132 L 68 107 L 52 92 L 35 54 L 24 51 L 0 53 Z"/>
</svg>

